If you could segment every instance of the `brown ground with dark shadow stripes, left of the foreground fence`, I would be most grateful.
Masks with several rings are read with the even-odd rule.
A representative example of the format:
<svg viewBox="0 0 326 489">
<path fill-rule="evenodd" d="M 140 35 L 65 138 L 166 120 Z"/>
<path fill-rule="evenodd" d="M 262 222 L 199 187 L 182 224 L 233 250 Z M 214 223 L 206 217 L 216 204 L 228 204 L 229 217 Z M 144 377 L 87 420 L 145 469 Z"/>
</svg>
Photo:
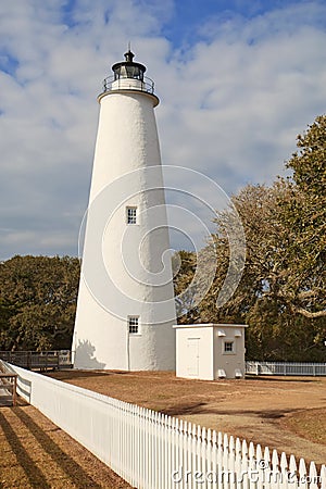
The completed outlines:
<svg viewBox="0 0 326 489">
<path fill-rule="evenodd" d="M 0 488 L 130 486 L 32 405 L 0 408 Z"/>
</svg>

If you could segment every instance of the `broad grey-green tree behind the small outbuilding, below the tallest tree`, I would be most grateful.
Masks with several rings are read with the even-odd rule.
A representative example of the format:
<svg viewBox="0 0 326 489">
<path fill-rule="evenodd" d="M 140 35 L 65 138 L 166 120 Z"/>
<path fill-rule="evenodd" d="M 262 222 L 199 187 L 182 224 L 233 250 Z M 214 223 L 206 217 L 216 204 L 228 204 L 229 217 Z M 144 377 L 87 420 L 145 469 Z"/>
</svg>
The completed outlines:
<svg viewBox="0 0 326 489">
<path fill-rule="evenodd" d="M 304 262 L 301 265 L 304 275 L 298 276 L 300 260 L 305 254 L 293 252 L 298 233 L 284 214 L 292 199 L 293 184 L 280 179 L 271 187 L 247 186 L 234 196 L 246 234 L 246 267 L 236 292 L 220 310 L 215 302 L 226 276 L 229 253 L 225 223 L 233 222 L 234 211 L 220 213 L 216 218 L 217 271 L 210 292 L 200 304 L 200 314 L 205 322 L 249 324 L 248 358 L 324 360 L 324 317 L 309 317 L 297 309 L 301 297 L 301 303 L 306 301 L 305 309 L 321 308 L 319 303 L 308 304 L 308 291 L 311 291 L 308 286 L 321 285 L 323 269 Z M 323 287 L 325 293 L 325 284 Z"/>
</svg>

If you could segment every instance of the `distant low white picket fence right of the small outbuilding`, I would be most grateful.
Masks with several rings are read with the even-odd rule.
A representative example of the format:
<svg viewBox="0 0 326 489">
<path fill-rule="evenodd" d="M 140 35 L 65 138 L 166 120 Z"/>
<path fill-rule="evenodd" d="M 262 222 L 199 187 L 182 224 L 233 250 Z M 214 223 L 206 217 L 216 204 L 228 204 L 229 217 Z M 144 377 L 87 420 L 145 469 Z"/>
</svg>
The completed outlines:
<svg viewBox="0 0 326 489">
<path fill-rule="evenodd" d="M 326 363 L 247 361 L 246 374 L 324 376 Z"/>
</svg>

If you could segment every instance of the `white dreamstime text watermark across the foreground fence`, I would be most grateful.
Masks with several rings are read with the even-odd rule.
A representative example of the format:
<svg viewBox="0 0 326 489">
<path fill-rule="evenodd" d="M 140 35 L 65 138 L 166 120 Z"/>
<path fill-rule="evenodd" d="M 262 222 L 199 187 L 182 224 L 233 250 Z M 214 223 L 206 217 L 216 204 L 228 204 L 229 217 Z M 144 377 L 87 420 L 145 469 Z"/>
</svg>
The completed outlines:
<svg viewBox="0 0 326 489">
<path fill-rule="evenodd" d="M 279 485 L 287 486 L 293 484 L 299 485 L 319 485 L 321 476 L 310 476 L 308 474 L 298 476 L 296 472 L 279 472 L 269 468 L 265 461 L 259 461 L 258 468 L 247 471 L 190 471 L 179 466 L 172 473 L 172 481 L 174 484 L 220 484 L 220 485 L 237 485 L 242 482 L 262 484 L 262 485 Z"/>
</svg>

